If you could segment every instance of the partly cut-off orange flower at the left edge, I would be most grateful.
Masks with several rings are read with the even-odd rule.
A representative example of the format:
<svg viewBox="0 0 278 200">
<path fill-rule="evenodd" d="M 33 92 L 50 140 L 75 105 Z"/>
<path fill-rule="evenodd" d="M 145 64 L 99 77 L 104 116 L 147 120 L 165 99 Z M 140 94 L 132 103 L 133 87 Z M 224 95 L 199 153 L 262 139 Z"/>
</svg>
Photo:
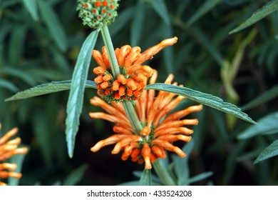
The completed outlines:
<svg viewBox="0 0 278 200">
<path fill-rule="evenodd" d="M 9 140 L 17 133 L 17 131 L 19 131 L 17 128 L 11 129 L 0 138 L 0 179 L 6 179 L 8 177 L 20 179 L 22 176 L 21 173 L 13 171 L 17 167 L 16 164 L 3 162 L 4 160 L 9 159 L 16 154 L 26 154 L 28 151 L 26 147 L 18 148 L 19 144 L 21 143 L 21 139 L 19 137 Z M 0 186 L 5 185 L 6 184 L 4 182 L 0 181 Z"/>
</svg>

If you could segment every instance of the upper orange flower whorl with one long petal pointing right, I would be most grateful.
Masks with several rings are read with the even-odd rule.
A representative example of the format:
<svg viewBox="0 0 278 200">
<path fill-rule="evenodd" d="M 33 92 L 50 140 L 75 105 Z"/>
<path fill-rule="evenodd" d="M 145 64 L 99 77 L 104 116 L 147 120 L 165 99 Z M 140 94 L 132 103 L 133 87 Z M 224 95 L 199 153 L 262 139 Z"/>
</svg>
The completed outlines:
<svg viewBox="0 0 278 200">
<path fill-rule="evenodd" d="M 142 54 L 140 54 L 139 46 L 125 45 L 120 49 L 115 49 L 115 56 L 121 71 L 117 77 L 112 76 L 105 46 L 103 46 L 102 54 L 100 51 L 93 50 L 93 58 L 99 65 L 93 69 L 93 73 L 97 75 L 94 81 L 98 84 L 98 94 L 108 103 L 137 100 L 147 84 L 147 79 L 154 71 L 150 66 L 142 65 L 143 62 L 152 59 L 166 46 L 171 46 L 176 42 L 177 37 L 165 39 Z"/>
</svg>

